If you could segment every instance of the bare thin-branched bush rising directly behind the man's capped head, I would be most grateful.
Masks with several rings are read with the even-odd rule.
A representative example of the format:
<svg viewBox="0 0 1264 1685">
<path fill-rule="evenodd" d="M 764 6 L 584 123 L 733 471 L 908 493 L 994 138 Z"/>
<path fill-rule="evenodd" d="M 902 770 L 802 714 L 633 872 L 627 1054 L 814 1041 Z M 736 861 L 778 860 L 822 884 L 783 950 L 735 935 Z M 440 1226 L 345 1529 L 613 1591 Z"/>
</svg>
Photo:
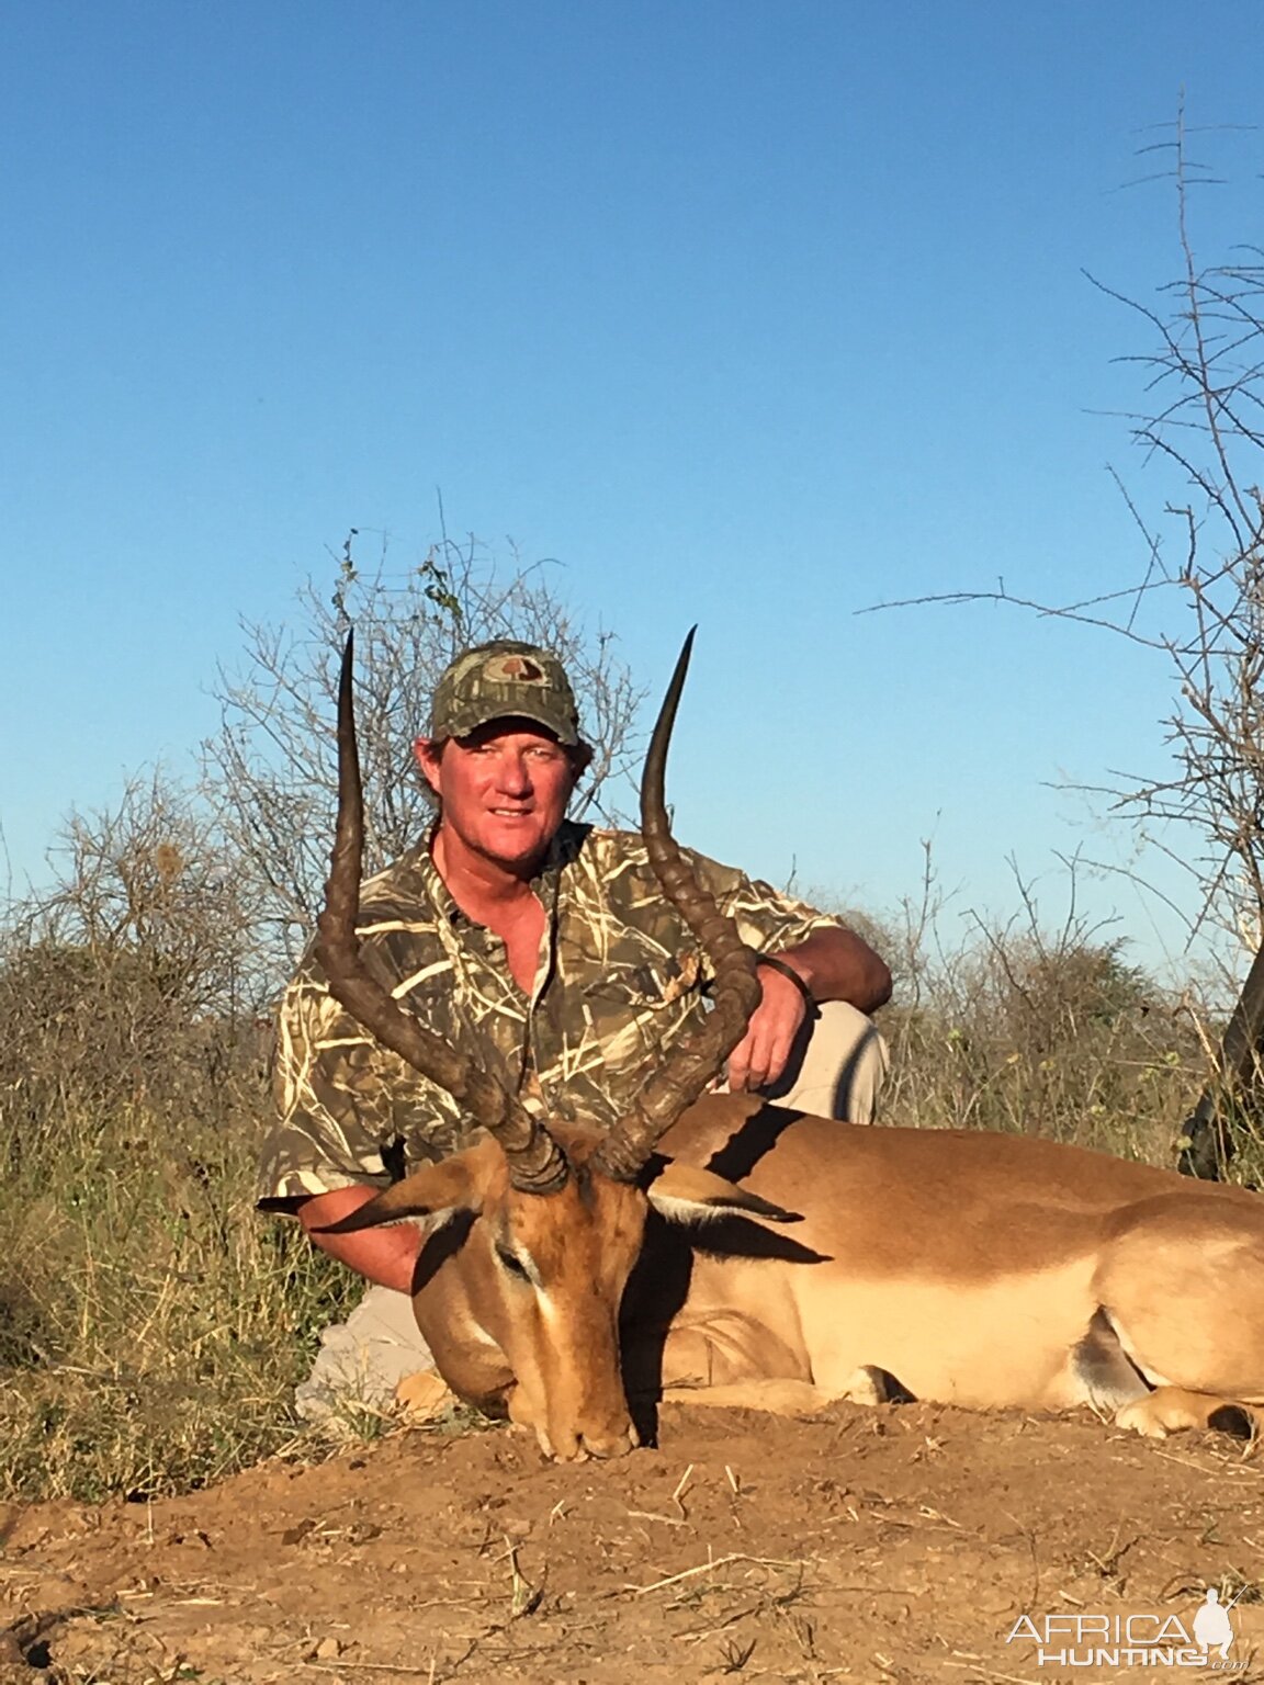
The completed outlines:
<svg viewBox="0 0 1264 1685">
<path fill-rule="evenodd" d="M 204 745 L 207 790 L 226 836 L 263 898 L 271 949 L 293 962 L 310 935 L 329 869 L 337 777 L 332 738 L 337 669 L 356 627 L 356 725 L 366 787 L 366 873 L 415 848 L 433 819 L 415 768 L 443 667 L 465 645 L 514 637 L 556 650 L 580 701 L 593 763 L 573 810 L 610 817 L 639 755 L 642 698 L 610 632 L 566 607 L 554 563 L 497 564 L 477 539 L 431 546 L 396 571 L 389 546 L 371 566 L 352 532 L 332 588 L 298 595 L 295 627 L 246 623 L 244 667 L 221 674 L 222 725 Z"/>
</svg>

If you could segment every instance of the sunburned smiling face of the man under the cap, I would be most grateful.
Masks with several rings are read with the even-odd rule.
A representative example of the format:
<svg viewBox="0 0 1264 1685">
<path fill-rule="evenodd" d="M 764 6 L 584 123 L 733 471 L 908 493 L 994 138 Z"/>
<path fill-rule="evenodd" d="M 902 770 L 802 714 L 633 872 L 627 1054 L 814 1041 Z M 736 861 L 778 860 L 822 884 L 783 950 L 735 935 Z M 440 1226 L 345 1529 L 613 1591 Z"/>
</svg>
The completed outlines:
<svg viewBox="0 0 1264 1685">
<path fill-rule="evenodd" d="M 492 719 L 465 738 L 418 738 L 415 753 L 450 841 L 511 871 L 543 861 L 575 789 L 570 755 L 543 726 Z"/>
</svg>

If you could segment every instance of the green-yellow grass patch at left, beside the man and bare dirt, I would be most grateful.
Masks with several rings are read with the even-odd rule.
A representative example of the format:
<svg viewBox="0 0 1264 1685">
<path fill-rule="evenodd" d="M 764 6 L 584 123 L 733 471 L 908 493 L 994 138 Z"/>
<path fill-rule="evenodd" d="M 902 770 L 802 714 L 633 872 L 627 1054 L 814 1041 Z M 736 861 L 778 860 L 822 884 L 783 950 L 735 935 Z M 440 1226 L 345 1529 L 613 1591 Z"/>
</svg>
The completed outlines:
<svg viewBox="0 0 1264 1685">
<path fill-rule="evenodd" d="M 351 1282 L 254 1213 L 251 1099 L 184 1141 L 140 1110 L 49 1121 L 0 1188 L 0 1493 L 187 1490 L 295 1437 Z"/>
</svg>

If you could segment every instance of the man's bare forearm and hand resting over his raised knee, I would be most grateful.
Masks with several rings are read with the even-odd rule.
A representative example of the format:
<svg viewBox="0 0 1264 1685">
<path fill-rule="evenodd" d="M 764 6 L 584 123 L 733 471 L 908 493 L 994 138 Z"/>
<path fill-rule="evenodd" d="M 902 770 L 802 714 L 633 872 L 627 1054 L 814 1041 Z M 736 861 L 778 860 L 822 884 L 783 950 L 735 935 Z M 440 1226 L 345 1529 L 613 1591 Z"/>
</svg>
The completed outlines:
<svg viewBox="0 0 1264 1685">
<path fill-rule="evenodd" d="M 777 964 L 758 966 L 763 996 L 745 1036 L 728 1056 L 728 1085 L 733 1090 L 777 1082 L 811 1003 L 848 1001 L 870 1014 L 892 998 L 886 962 L 846 925 L 817 925 L 802 942 L 769 949 L 769 954 Z M 785 971 L 799 981 L 787 977 Z"/>
</svg>

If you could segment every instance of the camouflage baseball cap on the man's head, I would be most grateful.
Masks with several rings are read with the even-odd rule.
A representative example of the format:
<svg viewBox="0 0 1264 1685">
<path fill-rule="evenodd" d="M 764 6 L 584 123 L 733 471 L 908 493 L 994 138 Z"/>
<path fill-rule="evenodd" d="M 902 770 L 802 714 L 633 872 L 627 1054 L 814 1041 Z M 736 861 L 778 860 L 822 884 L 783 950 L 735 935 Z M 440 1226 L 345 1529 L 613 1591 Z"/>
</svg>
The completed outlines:
<svg viewBox="0 0 1264 1685">
<path fill-rule="evenodd" d="M 512 639 L 457 655 L 435 686 L 430 736 L 469 736 L 489 719 L 509 718 L 533 719 L 560 743 L 580 741 L 575 693 L 558 657 Z"/>
</svg>

